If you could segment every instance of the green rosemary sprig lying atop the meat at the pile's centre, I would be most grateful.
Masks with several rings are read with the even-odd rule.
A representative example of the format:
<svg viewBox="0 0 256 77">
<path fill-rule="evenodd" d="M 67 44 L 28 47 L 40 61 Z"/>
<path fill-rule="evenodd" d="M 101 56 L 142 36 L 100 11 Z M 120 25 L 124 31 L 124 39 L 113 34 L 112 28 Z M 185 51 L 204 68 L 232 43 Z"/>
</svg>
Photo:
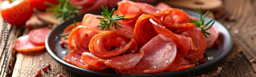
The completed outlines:
<svg viewBox="0 0 256 77">
<path fill-rule="evenodd" d="M 105 31 L 106 29 L 109 29 L 111 31 L 111 27 L 113 27 L 113 25 L 115 25 L 116 29 L 117 29 L 117 25 L 119 27 L 122 27 L 122 25 L 118 24 L 116 20 L 126 19 L 124 18 L 125 15 L 123 16 L 117 16 L 118 14 L 113 15 L 115 8 L 113 8 L 111 12 L 109 12 L 108 7 L 104 8 L 103 6 L 101 6 L 101 8 L 103 10 L 101 12 L 101 15 L 104 18 L 97 17 L 101 21 L 100 25 L 97 25 L 97 27 L 99 27 L 99 30 Z"/>
</svg>

